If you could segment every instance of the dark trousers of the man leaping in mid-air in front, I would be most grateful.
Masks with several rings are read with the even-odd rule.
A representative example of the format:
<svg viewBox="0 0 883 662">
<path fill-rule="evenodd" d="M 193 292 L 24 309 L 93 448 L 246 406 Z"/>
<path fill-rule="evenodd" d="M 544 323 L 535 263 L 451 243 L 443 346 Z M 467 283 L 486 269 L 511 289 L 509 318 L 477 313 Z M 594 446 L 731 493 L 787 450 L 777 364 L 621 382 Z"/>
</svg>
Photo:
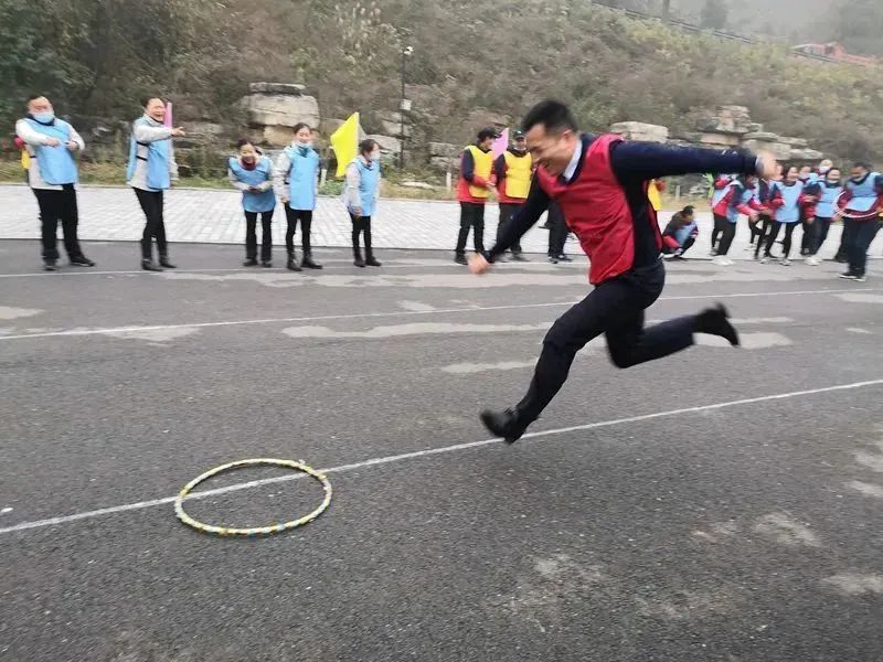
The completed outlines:
<svg viewBox="0 0 883 662">
<path fill-rule="evenodd" d="M 576 353 L 604 333 L 610 359 L 629 367 L 661 359 L 693 344 L 695 317 L 643 328 L 643 310 L 666 282 L 662 261 L 605 280 L 549 330 L 530 388 L 518 404 L 519 417 L 532 423 L 564 385 Z"/>
</svg>

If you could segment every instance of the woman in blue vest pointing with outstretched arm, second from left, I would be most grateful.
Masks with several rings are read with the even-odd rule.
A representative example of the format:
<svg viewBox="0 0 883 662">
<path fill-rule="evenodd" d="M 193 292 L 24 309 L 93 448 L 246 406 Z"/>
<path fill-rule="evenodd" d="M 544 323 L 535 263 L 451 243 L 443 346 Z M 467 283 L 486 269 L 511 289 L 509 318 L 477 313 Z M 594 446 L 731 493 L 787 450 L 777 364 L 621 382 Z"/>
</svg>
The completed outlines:
<svg viewBox="0 0 883 662">
<path fill-rule="evenodd" d="M 184 129 L 163 126 L 166 102 L 159 97 L 142 100 L 145 114 L 132 122 L 129 141 L 129 167 L 126 182 L 135 189 L 138 203 L 147 223 L 141 235 L 141 268 L 146 271 L 174 269 L 169 261 L 166 242 L 166 223 L 162 217 L 162 193 L 178 179 L 178 163 L 172 153 L 172 138 L 180 138 Z M 159 265 L 153 261 L 153 239 L 157 241 Z"/>
</svg>

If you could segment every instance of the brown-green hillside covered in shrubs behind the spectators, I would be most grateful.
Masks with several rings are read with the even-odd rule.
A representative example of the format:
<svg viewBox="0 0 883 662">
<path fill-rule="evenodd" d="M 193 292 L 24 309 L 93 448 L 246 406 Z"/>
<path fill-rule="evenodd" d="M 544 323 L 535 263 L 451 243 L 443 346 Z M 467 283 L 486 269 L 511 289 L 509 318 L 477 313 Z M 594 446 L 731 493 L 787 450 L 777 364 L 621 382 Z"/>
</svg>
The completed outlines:
<svg viewBox="0 0 883 662">
<path fill-rule="evenodd" d="M 585 1 L 0 0 L 0 15 L 6 135 L 35 89 L 61 113 L 127 119 L 151 93 L 178 102 L 182 120 L 236 121 L 235 102 L 258 79 L 302 82 L 325 116 L 359 109 L 376 130 L 377 115 L 397 107 L 401 51 L 412 45 L 414 147 L 461 142 L 485 117 L 517 118 L 554 96 L 591 130 L 626 119 L 690 129 L 699 109 L 741 104 L 768 130 L 883 162 L 879 70 Z"/>
</svg>

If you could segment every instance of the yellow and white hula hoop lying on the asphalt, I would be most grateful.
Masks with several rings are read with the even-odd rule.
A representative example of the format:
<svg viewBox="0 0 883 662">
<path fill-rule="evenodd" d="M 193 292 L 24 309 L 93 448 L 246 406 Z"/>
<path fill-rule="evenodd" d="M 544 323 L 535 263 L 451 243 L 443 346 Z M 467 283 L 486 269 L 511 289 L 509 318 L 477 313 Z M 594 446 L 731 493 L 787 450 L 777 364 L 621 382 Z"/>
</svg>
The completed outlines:
<svg viewBox="0 0 883 662">
<path fill-rule="evenodd" d="M 291 520 L 290 522 L 283 522 L 280 524 L 272 524 L 269 526 L 256 526 L 254 528 L 234 528 L 232 526 L 215 526 L 214 524 L 204 524 L 198 520 L 191 517 L 184 511 L 184 499 L 187 499 L 188 494 L 201 482 L 209 480 L 213 476 L 217 476 L 224 471 L 230 471 L 231 469 L 241 469 L 242 467 L 255 467 L 255 466 L 269 466 L 269 467 L 285 467 L 287 469 L 294 469 L 295 471 L 302 471 L 308 476 L 311 476 L 320 483 L 322 483 L 322 489 L 325 490 L 325 498 L 322 499 L 322 503 L 319 504 L 311 513 L 304 515 L 298 520 Z M 291 528 L 297 528 L 298 526 L 302 526 L 304 524 L 308 524 L 312 522 L 316 517 L 321 515 L 327 509 L 328 505 L 331 503 L 331 483 L 329 482 L 328 478 L 325 473 L 317 471 L 312 467 L 305 465 L 302 461 L 294 461 L 294 460 L 276 460 L 270 458 L 257 458 L 252 460 L 237 460 L 235 462 L 228 462 L 226 465 L 221 465 L 220 467 L 215 467 L 214 469 L 210 469 L 205 473 L 198 476 L 189 483 L 184 485 L 184 488 L 178 493 L 178 496 L 174 499 L 174 514 L 175 516 L 181 520 L 188 526 L 195 528 L 202 533 L 211 533 L 213 535 L 221 535 L 221 536 L 245 536 L 245 537 L 256 537 L 260 535 L 272 535 L 274 533 L 281 533 L 283 531 L 290 531 Z"/>
</svg>

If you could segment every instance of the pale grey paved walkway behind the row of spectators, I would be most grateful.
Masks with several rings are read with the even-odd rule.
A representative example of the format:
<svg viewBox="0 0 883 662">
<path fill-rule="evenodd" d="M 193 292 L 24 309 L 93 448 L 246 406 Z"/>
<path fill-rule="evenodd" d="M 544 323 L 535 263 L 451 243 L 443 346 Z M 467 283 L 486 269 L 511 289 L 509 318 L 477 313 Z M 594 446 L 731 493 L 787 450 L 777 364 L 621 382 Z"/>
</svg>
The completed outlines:
<svg viewBox="0 0 883 662">
<path fill-rule="evenodd" d="M 141 236 L 143 216 L 132 192 L 125 188 L 83 186 L 79 190 L 79 236 L 87 241 L 132 242 Z M 38 238 L 36 201 L 23 185 L 0 185 L 0 238 Z M 276 209 L 273 241 L 285 244 L 285 216 Z M 667 223 L 671 213 L 660 214 Z M 459 227 L 459 209 L 454 202 L 384 200 L 374 217 L 373 239 L 377 248 L 451 249 Z M 497 232 L 498 207 L 488 205 L 486 244 L 492 245 Z M 245 222 L 235 191 L 175 189 L 166 197 L 167 235 L 171 242 L 242 244 Z M 692 257 L 706 257 L 711 235 L 711 215 L 700 214 L 700 243 Z M 797 233 L 799 237 L 799 232 Z M 338 197 L 320 197 L 312 224 L 316 246 L 350 246 L 350 221 Z M 297 241 L 299 242 L 299 235 Z M 798 238 L 799 241 L 799 238 Z M 522 241 L 529 253 L 546 253 L 549 235 L 539 224 Z M 831 257 L 840 242 L 840 228 L 832 227 L 822 250 Z M 733 259 L 747 259 L 747 224 L 741 223 L 731 249 Z M 568 252 L 578 248 L 568 243 Z M 876 255 L 883 246 L 879 238 L 872 247 Z"/>
</svg>

